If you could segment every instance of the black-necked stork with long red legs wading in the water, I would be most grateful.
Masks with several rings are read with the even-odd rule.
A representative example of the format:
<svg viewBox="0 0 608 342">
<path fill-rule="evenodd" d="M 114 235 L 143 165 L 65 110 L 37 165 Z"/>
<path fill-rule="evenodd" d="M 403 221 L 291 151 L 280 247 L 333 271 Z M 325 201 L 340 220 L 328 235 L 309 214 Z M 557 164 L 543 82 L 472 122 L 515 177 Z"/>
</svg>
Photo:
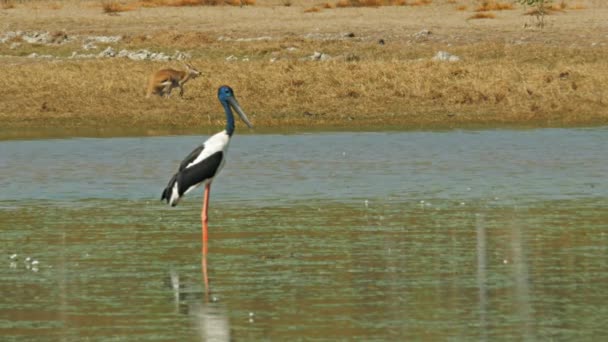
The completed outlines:
<svg viewBox="0 0 608 342">
<path fill-rule="evenodd" d="M 209 206 L 209 193 L 211 182 L 220 172 L 226 161 L 226 152 L 230 138 L 234 133 L 234 116 L 232 109 L 237 112 L 241 120 L 249 127 L 253 125 L 241 109 L 238 101 L 234 97 L 234 91 L 229 86 L 221 86 L 217 91 L 217 97 L 226 112 L 226 129 L 207 139 L 202 145 L 179 164 L 179 169 L 171 177 L 169 184 L 163 190 L 161 200 L 166 200 L 172 207 L 176 206 L 179 200 L 198 186 L 205 185 L 205 195 L 203 197 L 203 208 L 201 210 L 201 221 L 203 225 L 203 254 L 206 254 L 207 242 L 207 209 Z"/>
</svg>

